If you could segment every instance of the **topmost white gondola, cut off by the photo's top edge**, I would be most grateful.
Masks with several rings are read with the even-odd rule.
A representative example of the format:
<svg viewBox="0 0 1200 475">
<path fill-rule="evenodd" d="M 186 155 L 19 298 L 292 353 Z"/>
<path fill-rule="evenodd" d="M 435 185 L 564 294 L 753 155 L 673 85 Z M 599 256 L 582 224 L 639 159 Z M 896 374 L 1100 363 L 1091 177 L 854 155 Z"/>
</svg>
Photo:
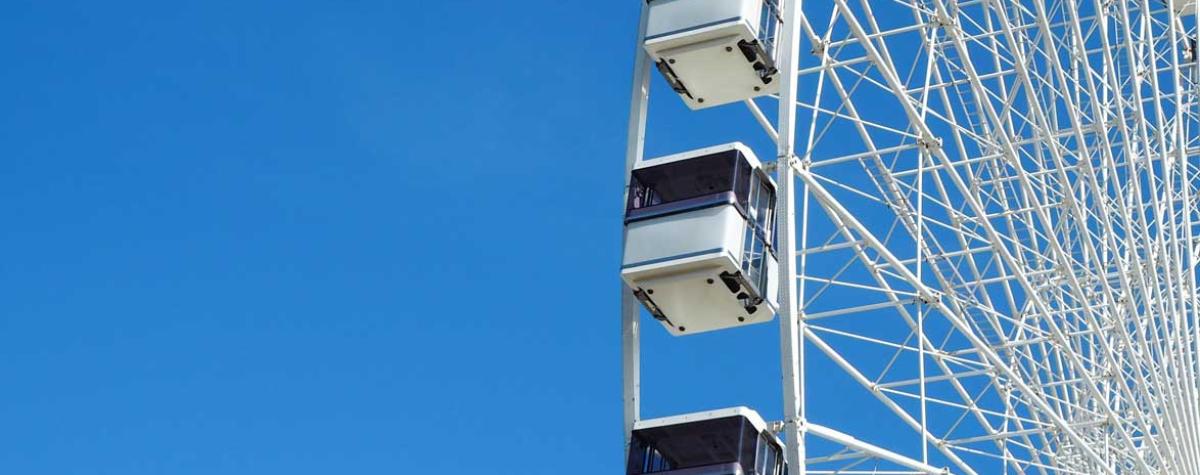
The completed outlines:
<svg viewBox="0 0 1200 475">
<path fill-rule="evenodd" d="M 650 0 L 646 52 L 692 109 L 779 90 L 776 0 Z"/>
</svg>

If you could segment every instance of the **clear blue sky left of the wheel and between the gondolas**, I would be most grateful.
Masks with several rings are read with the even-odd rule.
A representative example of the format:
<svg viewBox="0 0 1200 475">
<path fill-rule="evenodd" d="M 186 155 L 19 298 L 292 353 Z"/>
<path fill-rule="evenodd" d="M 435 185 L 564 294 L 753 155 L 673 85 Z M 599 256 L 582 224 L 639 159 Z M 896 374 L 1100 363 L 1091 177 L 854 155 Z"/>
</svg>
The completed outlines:
<svg viewBox="0 0 1200 475">
<path fill-rule="evenodd" d="M 636 14 L 4 2 L 0 473 L 620 473 Z M 648 154 L 764 146 L 655 85 Z M 779 413 L 776 325 L 644 357 Z"/>
</svg>

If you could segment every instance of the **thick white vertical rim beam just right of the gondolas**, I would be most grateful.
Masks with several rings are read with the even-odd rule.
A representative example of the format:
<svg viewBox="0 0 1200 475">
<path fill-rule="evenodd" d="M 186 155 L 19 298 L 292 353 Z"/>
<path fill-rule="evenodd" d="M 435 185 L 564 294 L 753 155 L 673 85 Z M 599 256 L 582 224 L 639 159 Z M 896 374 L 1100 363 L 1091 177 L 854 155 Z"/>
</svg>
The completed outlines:
<svg viewBox="0 0 1200 475">
<path fill-rule="evenodd" d="M 784 379 L 784 435 L 790 473 L 805 475 L 804 337 L 796 285 L 796 100 L 803 0 L 782 0 L 779 48 L 779 353 Z"/>
</svg>

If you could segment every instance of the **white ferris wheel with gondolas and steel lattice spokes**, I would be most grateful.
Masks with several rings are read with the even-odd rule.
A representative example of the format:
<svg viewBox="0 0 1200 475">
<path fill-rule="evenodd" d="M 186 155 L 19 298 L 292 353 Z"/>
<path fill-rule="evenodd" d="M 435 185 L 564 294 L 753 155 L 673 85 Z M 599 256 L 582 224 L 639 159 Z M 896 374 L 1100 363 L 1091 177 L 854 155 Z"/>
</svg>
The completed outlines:
<svg viewBox="0 0 1200 475">
<path fill-rule="evenodd" d="M 1194 1 L 640 4 L 629 474 L 1200 474 Z M 643 157 L 652 74 L 775 155 Z M 641 420 L 643 309 L 778 321 L 782 417 Z M 913 443 L 806 407 L 816 359 Z"/>
</svg>

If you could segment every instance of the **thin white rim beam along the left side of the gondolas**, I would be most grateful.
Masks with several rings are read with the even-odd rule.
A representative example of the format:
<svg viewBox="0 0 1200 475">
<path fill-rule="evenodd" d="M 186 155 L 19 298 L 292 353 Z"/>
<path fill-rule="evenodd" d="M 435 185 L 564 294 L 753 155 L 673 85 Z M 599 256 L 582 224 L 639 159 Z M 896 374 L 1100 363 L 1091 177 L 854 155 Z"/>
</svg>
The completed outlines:
<svg viewBox="0 0 1200 475">
<path fill-rule="evenodd" d="M 629 174 L 634 164 L 642 160 L 642 151 L 646 144 L 646 109 L 650 97 L 650 58 L 642 48 L 646 41 L 646 22 L 649 6 L 640 0 L 642 6 L 641 20 L 637 26 L 637 43 L 634 50 L 634 89 L 630 94 L 629 103 L 629 132 L 625 137 L 625 193 L 622 200 L 622 210 L 629 202 Z M 626 233 L 622 227 L 620 247 L 625 248 Z M 620 354 L 622 354 L 622 386 L 623 405 L 625 415 L 625 456 L 629 456 L 630 435 L 634 432 L 634 422 L 641 417 L 642 405 L 642 348 L 641 329 L 638 327 L 637 311 L 638 303 L 632 290 L 624 283 L 620 284 Z"/>
</svg>

